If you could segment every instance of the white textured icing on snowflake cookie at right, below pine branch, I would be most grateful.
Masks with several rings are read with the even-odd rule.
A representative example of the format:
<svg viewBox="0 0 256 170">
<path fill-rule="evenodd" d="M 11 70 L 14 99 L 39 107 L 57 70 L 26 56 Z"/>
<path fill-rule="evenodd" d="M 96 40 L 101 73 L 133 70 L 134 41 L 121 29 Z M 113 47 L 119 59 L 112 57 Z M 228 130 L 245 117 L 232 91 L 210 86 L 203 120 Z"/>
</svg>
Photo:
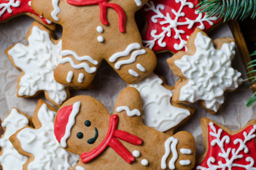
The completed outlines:
<svg viewBox="0 0 256 170">
<path fill-rule="evenodd" d="M 217 112 L 224 102 L 224 91 L 234 90 L 242 84 L 241 72 L 231 67 L 235 43 L 223 43 L 216 50 L 211 39 L 201 32 L 195 39 L 196 53 L 184 55 L 175 65 L 188 78 L 188 83 L 180 90 L 180 101 L 194 103 L 204 100 L 208 109 Z"/>
</svg>

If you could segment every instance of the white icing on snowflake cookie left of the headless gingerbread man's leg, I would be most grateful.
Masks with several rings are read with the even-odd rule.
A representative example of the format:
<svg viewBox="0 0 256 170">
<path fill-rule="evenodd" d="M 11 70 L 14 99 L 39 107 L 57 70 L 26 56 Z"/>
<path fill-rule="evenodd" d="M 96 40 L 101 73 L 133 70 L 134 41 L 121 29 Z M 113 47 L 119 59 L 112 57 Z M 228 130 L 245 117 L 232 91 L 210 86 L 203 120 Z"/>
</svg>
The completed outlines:
<svg viewBox="0 0 256 170">
<path fill-rule="evenodd" d="M 53 77 L 61 59 L 61 40 L 53 44 L 48 32 L 34 26 L 28 41 L 29 46 L 18 43 L 8 52 L 15 65 L 25 72 L 18 94 L 33 96 L 39 90 L 46 90 L 52 101 L 62 104 L 67 99 L 67 86 L 57 83 Z"/>
</svg>

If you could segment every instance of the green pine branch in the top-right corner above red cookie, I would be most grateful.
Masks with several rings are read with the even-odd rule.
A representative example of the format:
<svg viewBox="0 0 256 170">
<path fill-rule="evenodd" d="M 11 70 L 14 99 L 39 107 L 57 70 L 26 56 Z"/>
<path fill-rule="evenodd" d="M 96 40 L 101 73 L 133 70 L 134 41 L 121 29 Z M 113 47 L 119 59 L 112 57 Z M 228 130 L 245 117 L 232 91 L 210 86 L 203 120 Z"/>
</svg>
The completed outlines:
<svg viewBox="0 0 256 170">
<path fill-rule="evenodd" d="M 201 6 L 197 9 L 199 13 L 206 12 L 207 17 L 224 18 L 224 22 L 229 19 L 244 20 L 249 15 L 254 19 L 256 16 L 256 0 L 205 0 L 197 6 Z"/>
</svg>

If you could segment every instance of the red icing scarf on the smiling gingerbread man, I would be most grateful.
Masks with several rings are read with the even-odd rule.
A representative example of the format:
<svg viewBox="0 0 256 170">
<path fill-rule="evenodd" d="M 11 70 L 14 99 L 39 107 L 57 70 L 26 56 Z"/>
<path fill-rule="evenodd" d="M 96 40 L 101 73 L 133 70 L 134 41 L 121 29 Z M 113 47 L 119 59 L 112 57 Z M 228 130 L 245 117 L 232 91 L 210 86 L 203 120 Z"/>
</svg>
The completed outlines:
<svg viewBox="0 0 256 170">
<path fill-rule="evenodd" d="M 106 147 L 111 147 L 118 155 L 120 155 L 126 162 L 132 163 L 134 161 L 134 156 L 129 152 L 122 143 L 116 138 L 122 139 L 132 144 L 140 145 L 142 144 L 142 139 L 134 136 L 128 132 L 124 132 L 121 130 L 117 130 L 119 117 L 117 114 L 114 114 L 110 117 L 110 127 L 108 133 L 106 133 L 106 137 L 104 140 L 89 153 L 82 153 L 81 159 L 82 163 L 87 163 L 96 158 L 99 154 L 101 154 Z"/>
</svg>

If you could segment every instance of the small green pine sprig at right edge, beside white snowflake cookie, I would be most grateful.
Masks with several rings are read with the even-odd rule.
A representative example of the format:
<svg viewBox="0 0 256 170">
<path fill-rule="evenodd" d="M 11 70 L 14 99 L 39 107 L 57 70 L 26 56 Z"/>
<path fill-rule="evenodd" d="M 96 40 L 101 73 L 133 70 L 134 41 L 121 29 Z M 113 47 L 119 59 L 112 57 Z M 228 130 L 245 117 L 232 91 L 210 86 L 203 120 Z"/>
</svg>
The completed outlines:
<svg viewBox="0 0 256 170">
<path fill-rule="evenodd" d="M 256 51 L 253 52 L 252 54 L 250 54 L 250 56 L 256 56 Z M 256 66 L 255 63 L 256 63 L 256 60 L 252 60 L 251 62 L 249 62 L 247 65 L 249 65 L 249 64 L 252 64 L 252 65 L 248 66 L 246 69 Z M 247 72 L 246 75 L 250 74 L 250 72 L 256 72 L 256 70 L 254 69 L 254 70 L 252 70 L 252 71 L 249 71 L 249 72 Z M 250 80 L 250 79 L 254 79 L 254 80 L 252 80 L 252 81 L 247 85 L 247 87 L 250 87 L 250 88 L 252 88 L 252 89 L 256 89 L 256 84 L 252 84 L 252 83 L 256 82 L 256 76 L 249 77 L 249 78 L 245 79 L 244 81 Z M 246 107 L 250 107 L 255 101 L 256 101 L 256 92 L 255 92 L 255 93 L 251 96 L 251 98 L 248 100 L 248 102 L 246 103 Z"/>
</svg>

